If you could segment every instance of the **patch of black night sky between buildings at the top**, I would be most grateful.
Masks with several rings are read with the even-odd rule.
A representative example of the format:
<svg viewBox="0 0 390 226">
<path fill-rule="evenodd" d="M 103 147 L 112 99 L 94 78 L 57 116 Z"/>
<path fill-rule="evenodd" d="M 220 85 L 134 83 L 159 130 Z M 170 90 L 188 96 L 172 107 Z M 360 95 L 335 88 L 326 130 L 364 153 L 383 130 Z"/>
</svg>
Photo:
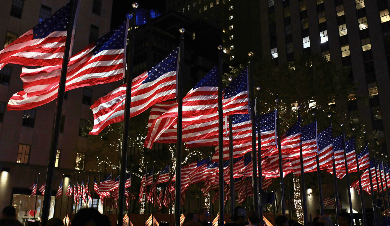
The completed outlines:
<svg viewBox="0 0 390 226">
<path fill-rule="evenodd" d="M 126 13 L 133 10 L 133 2 L 138 2 L 139 9 L 155 9 L 161 14 L 165 12 L 166 0 L 113 0 L 111 28 L 118 25 L 124 20 Z"/>
</svg>

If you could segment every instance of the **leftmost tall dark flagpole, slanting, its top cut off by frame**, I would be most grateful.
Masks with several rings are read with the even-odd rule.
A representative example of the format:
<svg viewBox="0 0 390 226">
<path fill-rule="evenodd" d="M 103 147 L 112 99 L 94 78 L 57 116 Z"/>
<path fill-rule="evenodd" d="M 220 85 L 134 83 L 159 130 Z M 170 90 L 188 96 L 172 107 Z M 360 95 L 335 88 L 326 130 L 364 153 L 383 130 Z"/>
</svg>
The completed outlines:
<svg viewBox="0 0 390 226">
<path fill-rule="evenodd" d="M 73 37 L 74 31 L 76 29 L 78 9 L 81 0 L 71 0 L 71 11 L 69 14 L 69 23 L 67 27 L 67 35 L 65 41 L 65 50 L 64 58 L 62 59 L 61 75 L 60 81 L 58 84 L 58 95 L 57 95 L 57 104 L 55 107 L 55 116 L 54 116 L 54 126 L 53 126 L 53 135 L 51 138 L 51 147 L 49 152 L 49 161 L 48 161 L 48 170 L 46 173 L 46 187 L 48 191 L 43 196 L 42 204 L 42 217 L 41 225 L 46 225 L 49 212 L 50 212 L 50 200 L 51 200 L 51 190 L 53 189 L 53 176 L 55 169 L 55 158 L 57 156 L 57 146 L 58 146 L 58 137 L 60 135 L 60 123 L 62 115 L 62 103 L 64 102 L 64 93 L 65 93 L 65 83 L 66 83 L 66 72 L 68 62 L 71 57 L 72 47 L 73 47 Z"/>
</svg>

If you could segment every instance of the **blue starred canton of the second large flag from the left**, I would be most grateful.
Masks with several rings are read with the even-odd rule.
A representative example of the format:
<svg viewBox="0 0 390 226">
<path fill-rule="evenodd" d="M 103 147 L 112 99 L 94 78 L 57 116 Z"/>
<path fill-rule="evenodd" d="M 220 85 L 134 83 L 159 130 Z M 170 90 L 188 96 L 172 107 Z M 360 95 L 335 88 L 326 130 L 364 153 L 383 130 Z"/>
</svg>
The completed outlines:
<svg viewBox="0 0 390 226">
<path fill-rule="evenodd" d="M 95 42 L 96 47 L 92 50 L 94 55 L 100 53 L 103 50 L 108 49 L 123 49 L 124 37 L 126 32 L 126 21 L 120 23 L 115 29 L 106 33 L 103 37 Z"/>
</svg>

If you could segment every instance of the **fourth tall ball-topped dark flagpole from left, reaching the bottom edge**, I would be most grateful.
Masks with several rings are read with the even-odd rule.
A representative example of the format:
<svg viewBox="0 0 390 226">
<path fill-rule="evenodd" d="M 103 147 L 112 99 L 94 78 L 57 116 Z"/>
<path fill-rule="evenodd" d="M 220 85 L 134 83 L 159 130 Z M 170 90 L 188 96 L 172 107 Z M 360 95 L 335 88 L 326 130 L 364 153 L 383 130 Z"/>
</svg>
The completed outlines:
<svg viewBox="0 0 390 226">
<path fill-rule="evenodd" d="M 222 46 L 218 46 L 218 154 L 219 154 L 219 225 L 224 224 L 225 211 L 223 209 L 223 118 L 222 118 L 222 67 L 223 67 L 223 53 Z"/>
</svg>

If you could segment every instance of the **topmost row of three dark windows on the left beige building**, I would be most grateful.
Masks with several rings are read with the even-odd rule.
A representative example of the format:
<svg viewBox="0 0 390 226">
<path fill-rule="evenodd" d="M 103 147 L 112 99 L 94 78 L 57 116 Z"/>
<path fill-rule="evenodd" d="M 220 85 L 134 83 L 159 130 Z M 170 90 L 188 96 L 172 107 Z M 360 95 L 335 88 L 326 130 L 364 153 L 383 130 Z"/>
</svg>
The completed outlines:
<svg viewBox="0 0 390 226">
<path fill-rule="evenodd" d="M 10 15 L 21 19 L 23 13 L 24 0 L 12 0 Z M 100 16 L 101 12 L 101 0 L 94 0 L 92 4 L 92 12 Z M 38 23 L 41 23 L 44 19 L 50 17 L 51 8 L 46 5 L 41 5 L 39 11 Z"/>
</svg>

